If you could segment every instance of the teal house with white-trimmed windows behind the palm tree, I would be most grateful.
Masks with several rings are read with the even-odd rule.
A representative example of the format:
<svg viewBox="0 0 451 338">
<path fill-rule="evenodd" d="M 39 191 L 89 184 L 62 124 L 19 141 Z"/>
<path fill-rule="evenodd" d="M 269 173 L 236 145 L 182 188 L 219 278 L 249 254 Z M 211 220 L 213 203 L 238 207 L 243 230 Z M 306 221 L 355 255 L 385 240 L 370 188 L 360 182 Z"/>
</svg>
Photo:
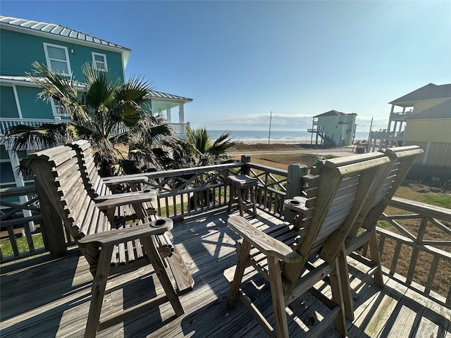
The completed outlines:
<svg viewBox="0 0 451 338">
<path fill-rule="evenodd" d="M 124 46 L 62 25 L 0 15 L 0 136 L 12 125 L 61 123 L 69 118 L 54 102 L 37 98 L 41 89 L 26 74 L 32 70 L 32 62 L 73 74 L 78 81 L 83 80 L 82 65 L 90 62 L 124 82 L 130 52 Z M 184 105 L 192 99 L 155 91 L 149 92 L 148 99 L 152 107 L 149 113 L 166 118 L 176 133 L 184 132 Z M 172 108 L 178 108 L 178 123 L 172 123 Z M 16 154 L 8 144 L 1 144 L 0 156 L 1 187 L 23 185 L 13 168 L 25 152 Z"/>
</svg>

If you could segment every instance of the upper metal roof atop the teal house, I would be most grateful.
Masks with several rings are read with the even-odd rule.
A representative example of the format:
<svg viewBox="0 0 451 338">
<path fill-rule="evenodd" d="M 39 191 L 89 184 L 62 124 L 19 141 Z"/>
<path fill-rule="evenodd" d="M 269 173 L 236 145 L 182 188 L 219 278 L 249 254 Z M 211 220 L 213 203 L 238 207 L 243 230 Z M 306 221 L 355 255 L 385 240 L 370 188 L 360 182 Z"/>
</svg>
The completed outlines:
<svg viewBox="0 0 451 338">
<path fill-rule="evenodd" d="M 113 44 L 113 42 L 100 39 L 99 37 L 93 37 L 92 35 L 88 35 L 62 25 L 57 25 L 55 23 L 41 23 L 35 20 L 27 20 L 0 15 L 0 25 L 3 27 L 16 28 L 27 32 L 54 35 L 55 38 L 76 39 L 80 42 L 97 44 L 104 47 L 108 46 L 130 52 L 130 49 L 128 49 L 127 47 L 121 46 L 119 44 Z"/>
</svg>

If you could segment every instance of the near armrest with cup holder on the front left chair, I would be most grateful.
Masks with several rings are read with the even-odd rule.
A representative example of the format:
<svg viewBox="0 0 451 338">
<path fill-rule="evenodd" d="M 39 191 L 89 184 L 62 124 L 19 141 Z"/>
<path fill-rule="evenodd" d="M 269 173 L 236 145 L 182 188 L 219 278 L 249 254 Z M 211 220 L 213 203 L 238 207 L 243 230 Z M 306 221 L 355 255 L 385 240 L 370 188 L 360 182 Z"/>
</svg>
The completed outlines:
<svg viewBox="0 0 451 338">
<path fill-rule="evenodd" d="M 163 225 L 159 225 L 161 220 L 165 220 Z M 97 234 L 87 234 L 78 241 L 81 247 L 84 246 L 111 246 L 119 243 L 131 241 L 142 237 L 149 237 L 155 234 L 163 234 L 173 228 L 173 222 L 164 218 L 154 220 L 151 223 L 137 225 L 135 227 L 126 227 L 124 229 L 99 232 Z"/>
</svg>

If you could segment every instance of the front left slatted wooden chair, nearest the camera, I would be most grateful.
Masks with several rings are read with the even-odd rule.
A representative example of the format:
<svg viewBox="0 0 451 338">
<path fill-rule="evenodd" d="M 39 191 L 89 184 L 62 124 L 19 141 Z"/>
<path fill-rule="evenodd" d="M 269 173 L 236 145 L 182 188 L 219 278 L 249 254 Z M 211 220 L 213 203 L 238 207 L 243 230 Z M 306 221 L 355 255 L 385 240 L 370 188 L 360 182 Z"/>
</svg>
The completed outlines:
<svg viewBox="0 0 451 338">
<path fill-rule="evenodd" d="M 194 280 L 178 251 L 158 250 L 156 236 L 171 230 L 170 219 L 154 220 L 137 226 L 124 225 L 112 230 L 111 223 L 92 200 L 80 175 L 78 157 L 68 146 L 57 146 L 31 154 L 23 161 L 35 174 L 35 184 L 42 206 L 54 208 L 80 251 L 94 277 L 85 337 L 95 337 L 97 330 L 118 323 L 125 316 L 149 306 L 169 301 L 176 315 L 184 313 L 178 295 L 192 289 Z M 168 263 L 168 259 L 176 263 Z M 109 275 L 125 273 L 151 263 L 165 294 L 139 306 L 116 312 L 99 322 Z M 165 268 L 168 263 L 171 269 Z M 173 281 L 175 282 L 175 287 Z"/>
</svg>

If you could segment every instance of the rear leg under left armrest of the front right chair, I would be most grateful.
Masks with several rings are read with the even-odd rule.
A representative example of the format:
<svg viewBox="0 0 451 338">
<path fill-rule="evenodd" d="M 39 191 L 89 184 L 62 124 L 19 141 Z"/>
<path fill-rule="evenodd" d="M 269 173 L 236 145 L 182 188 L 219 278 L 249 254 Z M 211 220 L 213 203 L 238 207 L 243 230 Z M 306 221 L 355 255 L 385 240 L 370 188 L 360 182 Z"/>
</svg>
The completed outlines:
<svg viewBox="0 0 451 338">
<path fill-rule="evenodd" d="M 269 284 L 273 301 L 274 318 L 276 320 L 277 337 L 288 337 L 288 320 L 285 312 L 285 296 L 283 295 L 282 275 L 279 260 L 268 256 Z"/>
</svg>

